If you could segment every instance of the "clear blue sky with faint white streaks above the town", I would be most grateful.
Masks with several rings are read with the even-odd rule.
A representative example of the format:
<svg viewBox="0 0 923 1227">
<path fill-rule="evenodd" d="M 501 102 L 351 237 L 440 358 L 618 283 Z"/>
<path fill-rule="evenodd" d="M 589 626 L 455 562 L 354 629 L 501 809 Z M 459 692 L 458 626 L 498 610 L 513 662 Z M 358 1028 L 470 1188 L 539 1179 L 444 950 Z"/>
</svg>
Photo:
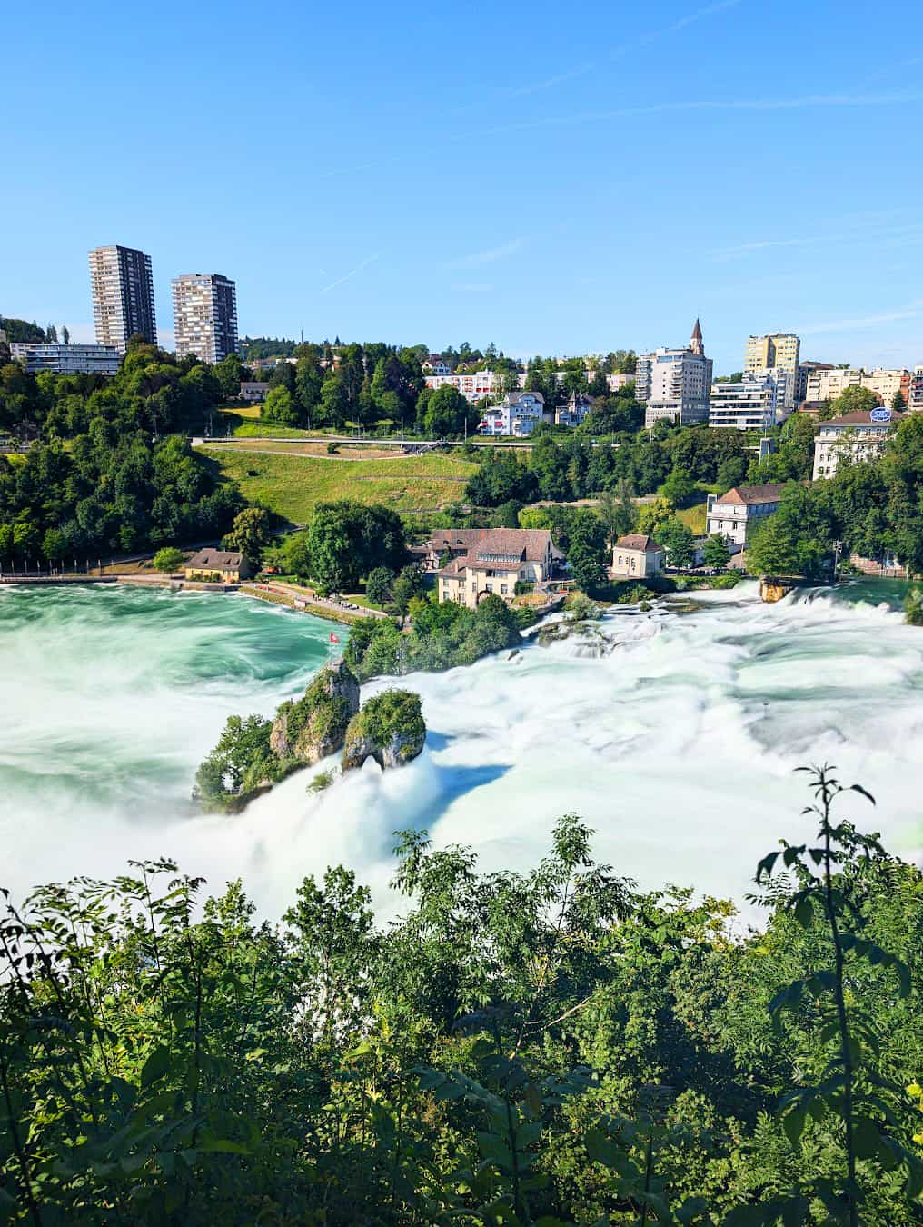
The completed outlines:
<svg viewBox="0 0 923 1227">
<path fill-rule="evenodd" d="M 509 353 L 748 333 L 923 363 L 913 0 L 4 17 L 0 314 L 92 337 L 87 250 L 223 272 L 241 333 Z"/>
</svg>

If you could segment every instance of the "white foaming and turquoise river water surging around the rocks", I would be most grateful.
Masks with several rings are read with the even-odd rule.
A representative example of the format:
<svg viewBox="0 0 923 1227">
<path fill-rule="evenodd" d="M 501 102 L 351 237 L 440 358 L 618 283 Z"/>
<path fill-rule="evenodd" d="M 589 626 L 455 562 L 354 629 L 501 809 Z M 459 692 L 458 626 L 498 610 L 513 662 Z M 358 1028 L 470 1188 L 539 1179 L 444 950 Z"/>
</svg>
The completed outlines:
<svg viewBox="0 0 923 1227">
<path fill-rule="evenodd" d="M 192 777 L 224 720 L 302 692 L 331 623 L 243 596 L 4 589 L 0 885 L 22 897 L 172 856 L 213 891 L 243 877 L 276 917 L 302 877 L 342 861 L 387 912 L 395 829 L 525 867 L 577 811 L 597 855 L 642 886 L 740 899 L 780 837 L 810 833 L 793 768 L 825 760 L 878 798 L 853 816 L 917 859 L 923 632 L 890 595 L 858 584 L 767 606 L 748 584 L 699 594 L 690 614 L 608 616 L 599 659 L 570 639 L 414 674 L 400 685 L 423 698 L 416 762 L 368 763 L 319 796 L 314 768 L 243 815 L 203 817 Z"/>
</svg>

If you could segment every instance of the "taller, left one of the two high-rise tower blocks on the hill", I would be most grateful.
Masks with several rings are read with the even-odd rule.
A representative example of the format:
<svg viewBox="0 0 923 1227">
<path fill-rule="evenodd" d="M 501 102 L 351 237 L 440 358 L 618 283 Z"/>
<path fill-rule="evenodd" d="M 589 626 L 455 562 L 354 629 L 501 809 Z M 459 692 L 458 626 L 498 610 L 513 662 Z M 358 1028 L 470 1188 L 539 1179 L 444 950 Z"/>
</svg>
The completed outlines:
<svg viewBox="0 0 923 1227">
<path fill-rule="evenodd" d="M 99 345 L 124 355 L 132 336 L 157 345 L 151 256 L 134 247 L 97 247 L 89 253 L 93 323 Z"/>
</svg>

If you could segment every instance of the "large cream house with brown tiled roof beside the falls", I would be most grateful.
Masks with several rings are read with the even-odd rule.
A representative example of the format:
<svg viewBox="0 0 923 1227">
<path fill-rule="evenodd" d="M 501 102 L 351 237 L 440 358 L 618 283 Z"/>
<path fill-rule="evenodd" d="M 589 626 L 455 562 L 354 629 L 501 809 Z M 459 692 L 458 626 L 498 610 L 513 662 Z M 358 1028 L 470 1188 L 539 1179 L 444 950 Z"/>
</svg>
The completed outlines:
<svg viewBox="0 0 923 1227">
<path fill-rule="evenodd" d="M 438 574 L 439 600 L 477 609 L 484 596 L 511 601 L 517 582 L 548 579 L 555 550 L 547 529 L 485 529 L 467 553 L 452 558 Z"/>
</svg>

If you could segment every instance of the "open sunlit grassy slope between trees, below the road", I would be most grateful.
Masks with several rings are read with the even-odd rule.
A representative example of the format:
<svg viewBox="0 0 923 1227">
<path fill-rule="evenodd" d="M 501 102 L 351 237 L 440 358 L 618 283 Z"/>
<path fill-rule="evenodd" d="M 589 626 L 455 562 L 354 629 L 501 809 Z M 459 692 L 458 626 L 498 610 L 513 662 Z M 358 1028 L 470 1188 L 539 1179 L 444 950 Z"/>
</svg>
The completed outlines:
<svg viewBox="0 0 923 1227">
<path fill-rule="evenodd" d="M 434 512 L 460 502 L 477 465 L 447 455 L 393 460 L 340 460 L 287 453 L 197 449 L 222 475 L 235 481 L 249 502 L 259 502 L 293 524 L 304 524 L 316 503 L 352 498 L 396 512 Z"/>
</svg>

